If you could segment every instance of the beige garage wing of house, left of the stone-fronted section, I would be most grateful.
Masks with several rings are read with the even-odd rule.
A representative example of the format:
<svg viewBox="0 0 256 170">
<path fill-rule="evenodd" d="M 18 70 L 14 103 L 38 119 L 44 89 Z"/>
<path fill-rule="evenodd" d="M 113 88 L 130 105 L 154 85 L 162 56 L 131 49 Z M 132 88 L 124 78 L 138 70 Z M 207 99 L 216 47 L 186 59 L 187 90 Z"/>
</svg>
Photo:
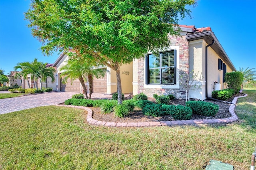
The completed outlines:
<svg viewBox="0 0 256 170">
<path fill-rule="evenodd" d="M 76 93 L 83 93 L 82 85 L 78 79 L 73 82 L 70 79 L 67 80 L 67 83 L 63 83 L 62 79 L 65 75 L 62 75 L 60 68 L 66 65 L 68 61 L 68 55 L 62 53 L 58 59 L 54 62 L 53 66 L 56 67 L 58 73 L 58 91 L 71 91 Z M 93 93 L 102 93 L 102 94 L 112 94 L 117 91 L 116 84 L 116 72 L 109 67 L 103 67 L 106 69 L 105 76 L 97 79 L 93 79 Z M 122 65 L 120 67 L 121 72 L 121 81 L 122 81 L 122 93 L 132 93 L 132 63 Z M 89 91 L 88 82 L 86 82 L 87 89 Z"/>
</svg>

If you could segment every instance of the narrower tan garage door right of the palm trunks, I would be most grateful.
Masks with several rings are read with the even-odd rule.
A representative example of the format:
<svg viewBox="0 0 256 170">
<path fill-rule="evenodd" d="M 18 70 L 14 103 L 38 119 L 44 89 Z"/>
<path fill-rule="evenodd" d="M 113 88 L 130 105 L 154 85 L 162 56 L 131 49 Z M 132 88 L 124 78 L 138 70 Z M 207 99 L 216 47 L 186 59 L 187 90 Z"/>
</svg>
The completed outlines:
<svg viewBox="0 0 256 170">
<path fill-rule="evenodd" d="M 93 78 L 93 93 L 107 93 L 107 73 L 103 78 Z"/>
</svg>

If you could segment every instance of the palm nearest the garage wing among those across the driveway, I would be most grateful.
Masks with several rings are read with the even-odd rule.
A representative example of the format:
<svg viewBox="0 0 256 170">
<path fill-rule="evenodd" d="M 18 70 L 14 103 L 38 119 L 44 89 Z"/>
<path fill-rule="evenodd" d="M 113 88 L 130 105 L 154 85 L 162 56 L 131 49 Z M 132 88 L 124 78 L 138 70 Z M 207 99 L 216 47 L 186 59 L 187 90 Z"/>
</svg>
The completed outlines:
<svg viewBox="0 0 256 170">
<path fill-rule="evenodd" d="M 46 64 L 42 64 L 39 68 L 39 78 L 41 79 L 40 82 L 40 90 L 42 90 L 42 85 L 43 82 L 46 82 L 46 88 L 47 88 L 47 78 L 50 77 L 52 79 L 52 83 L 54 83 L 55 78 L 54 78 L 54 72 L 55 69 L 54 67 L 46 67 Z"/>
</svg>

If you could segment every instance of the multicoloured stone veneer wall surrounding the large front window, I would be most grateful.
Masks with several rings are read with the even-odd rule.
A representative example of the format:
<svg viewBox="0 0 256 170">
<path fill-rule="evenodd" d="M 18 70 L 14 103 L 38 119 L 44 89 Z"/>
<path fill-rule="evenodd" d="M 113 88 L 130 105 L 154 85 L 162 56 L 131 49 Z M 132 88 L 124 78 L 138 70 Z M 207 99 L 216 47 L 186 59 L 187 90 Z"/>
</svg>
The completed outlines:
<svg viewBox="0 0 256 170">
<path fill-rule="evenodd" d="M 186 41 L 185 36 L 181 37 L 170 37 L 171 45 L 172 46 L 179 46 L 179 56 L 177 56 L 177 59 L 179 59 L 179 69 L 180 69 L 180 88 L 179 89 L 160 89 L 160 88 L 144 88 L 144 58 L 138 59 L 138 93 L 143 92 L 148 97 L 153 97 L 153 94 L 158 95 L 167 95 L 172 94 L 178 99 L 185 99 L 186 98 L 186 92 L 184 89 L 184 86 L 181 82 L 184 82 L 184 78 L 182 79 L 182 76 L 189 72 L 189 43 Z M 171 85 L 170 85 L 171 86 Z"/>
</svg>

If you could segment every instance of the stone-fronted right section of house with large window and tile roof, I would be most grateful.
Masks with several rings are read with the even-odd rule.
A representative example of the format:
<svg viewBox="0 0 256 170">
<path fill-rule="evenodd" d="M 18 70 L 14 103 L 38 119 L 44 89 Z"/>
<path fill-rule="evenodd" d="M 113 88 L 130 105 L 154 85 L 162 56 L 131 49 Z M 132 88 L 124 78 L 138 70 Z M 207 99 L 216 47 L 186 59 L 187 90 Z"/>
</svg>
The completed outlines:
<svg viewBox="0 0 256 170">
<path fill-rule="evenodd" d="M 214 82 L 226 88 L 224 76 L 236 71 L 228 55 L 210 27 L 180 25 L 181 36 L 170 36 L 171 46 L 157 55 L 148 53 L 133 62 L 133 94 L 173 94 L 185 99 L 184 75 L 194 70 L 202 73 L 201 88 L 190 91 L 190 98 L 204 100 L 211 97 Z"/>
</svg>

